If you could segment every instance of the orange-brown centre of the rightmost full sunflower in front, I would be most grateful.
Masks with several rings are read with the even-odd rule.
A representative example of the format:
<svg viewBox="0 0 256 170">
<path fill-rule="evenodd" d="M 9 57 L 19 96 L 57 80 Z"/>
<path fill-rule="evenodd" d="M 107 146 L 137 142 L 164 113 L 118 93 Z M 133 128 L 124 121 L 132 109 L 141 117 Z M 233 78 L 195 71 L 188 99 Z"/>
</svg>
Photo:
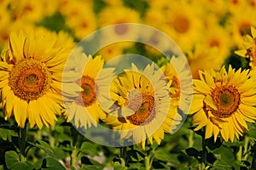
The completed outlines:
<svg viewBox="0 0 256 170">
<path fill-rule="evenodd" d="M 233 86 L 221 86 L 212 91 L 212 99 L 217 105 L 217 111 L 211 110 L 214 116 L 229 117 L 240 104 L 240 94 Z"/>
</svg>

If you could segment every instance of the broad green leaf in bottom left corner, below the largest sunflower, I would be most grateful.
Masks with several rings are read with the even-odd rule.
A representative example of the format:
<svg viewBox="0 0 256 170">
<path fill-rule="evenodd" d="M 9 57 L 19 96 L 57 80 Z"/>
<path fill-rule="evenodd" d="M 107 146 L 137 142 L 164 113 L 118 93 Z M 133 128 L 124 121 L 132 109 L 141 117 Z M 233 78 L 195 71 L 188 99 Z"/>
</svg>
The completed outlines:
<svg viewBox="0 0 256 170">
<path fill-rule="evenodd" d="M 15 151 L 5 153 L 5 162 L 9 169 L 31 170 L 34 168 L 31 161 L 20 161 L 20 157 Z"/>
</svg>

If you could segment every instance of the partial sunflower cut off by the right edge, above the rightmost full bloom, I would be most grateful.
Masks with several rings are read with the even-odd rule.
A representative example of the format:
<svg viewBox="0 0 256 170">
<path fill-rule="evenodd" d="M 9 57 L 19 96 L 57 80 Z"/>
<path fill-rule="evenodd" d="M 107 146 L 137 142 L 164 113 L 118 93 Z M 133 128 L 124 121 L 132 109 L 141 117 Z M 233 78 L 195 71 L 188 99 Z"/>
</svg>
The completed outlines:
<svg viewBox="0 0 256 170">
<path fill-rule="evenodd" d="M 251 36 L 245 35 L 243 39 L 244 48 L 236 50 L 235 53 L 250 59 L 249 66 L 253 69 L 253 66 L 256 65 L 256 29 L 251 26 Z"/>
</svg>

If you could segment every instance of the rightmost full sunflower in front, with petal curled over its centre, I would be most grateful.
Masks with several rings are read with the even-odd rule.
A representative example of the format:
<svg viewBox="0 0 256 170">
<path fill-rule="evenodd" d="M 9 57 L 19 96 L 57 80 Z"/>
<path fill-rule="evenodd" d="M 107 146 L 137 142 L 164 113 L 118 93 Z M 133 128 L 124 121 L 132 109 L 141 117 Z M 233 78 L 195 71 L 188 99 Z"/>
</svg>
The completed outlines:
<svg viewBox="0 0 256 170">
<path fill-rule="evenodd" d="M 195 92 L 190 113 L 195 130 L 205 127 L 205 138 L 218 134 L 233 142 L 247 129 L 247 122 L 256 119 L 256 89 L 248 71 L 224 67 L 219 71 L 200 71 L 201 80 L 194 80 Z"/>
</svg>

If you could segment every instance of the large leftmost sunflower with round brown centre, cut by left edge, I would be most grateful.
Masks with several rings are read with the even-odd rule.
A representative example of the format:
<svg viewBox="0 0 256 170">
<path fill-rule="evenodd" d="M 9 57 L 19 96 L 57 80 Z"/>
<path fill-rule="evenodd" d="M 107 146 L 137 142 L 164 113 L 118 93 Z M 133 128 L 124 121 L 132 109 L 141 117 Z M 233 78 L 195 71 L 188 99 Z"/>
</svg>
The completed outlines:
<svg viewBox="0 0 256 170">
<path fill-rule="evenodd" d="M 61 75 L 73 39 L 36 30 L 25 34 L 11 32 L 9 48 L 0 61 L 0 90 L 5 119 L 15 116 L 19 127 L 53 125 L 61 115 Z M 65 45 L 60 41 L 65 40 Z"/>
</svg>

